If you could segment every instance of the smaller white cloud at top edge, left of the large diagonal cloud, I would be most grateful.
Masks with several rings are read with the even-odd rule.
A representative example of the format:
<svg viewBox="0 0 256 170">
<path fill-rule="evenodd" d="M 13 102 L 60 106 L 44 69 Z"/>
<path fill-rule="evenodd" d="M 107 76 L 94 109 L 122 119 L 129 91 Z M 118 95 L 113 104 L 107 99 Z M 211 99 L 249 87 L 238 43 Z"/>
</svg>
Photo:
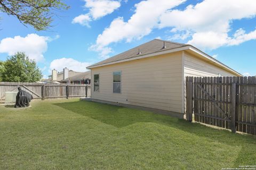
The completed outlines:
<svg viewBox="0 0 256 170">
<path fill-rule="evenodd" d="M 73 19 L 72 23 L 79 23 L 90 27 L 89 22 L 97 20 L 105 15 L 114 12 L 121 6 L 120 2 L 112 0 L 84 0 L 85 8 L 89 8 L 89 13 L 81 14 Z"/>
</svg>

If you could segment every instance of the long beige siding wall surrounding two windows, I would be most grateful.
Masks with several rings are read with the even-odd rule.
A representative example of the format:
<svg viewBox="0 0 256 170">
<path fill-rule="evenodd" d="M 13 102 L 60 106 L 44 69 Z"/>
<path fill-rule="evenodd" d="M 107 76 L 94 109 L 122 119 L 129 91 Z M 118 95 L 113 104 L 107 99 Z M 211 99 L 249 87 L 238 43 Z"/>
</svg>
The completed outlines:
<svg viewBox="0 0 256 170">
<path fill-rule="evenodd" d="M 182 52 L 91 69 L 92 99 L 183 113 Z M 113 72 L 122 71 L 122 94 L 113 94 Z M 93 75 L 100 90 L 93 91 Z"/>
</svg>

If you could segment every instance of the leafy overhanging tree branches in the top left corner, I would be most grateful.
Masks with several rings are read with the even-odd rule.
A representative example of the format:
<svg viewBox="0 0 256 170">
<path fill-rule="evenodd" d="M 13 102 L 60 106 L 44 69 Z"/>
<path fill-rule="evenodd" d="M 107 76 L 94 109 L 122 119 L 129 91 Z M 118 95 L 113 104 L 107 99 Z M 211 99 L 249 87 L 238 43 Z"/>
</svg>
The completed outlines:
<svg viewBox="0 0 256 170">
<path fill-rule="evenodd" d="M 54 11 L 68 9 L 62 0 L 0 0 L 0 11 L 15 16 L 23 25 L 36 30 L 51 27 Z"/>
</svg>

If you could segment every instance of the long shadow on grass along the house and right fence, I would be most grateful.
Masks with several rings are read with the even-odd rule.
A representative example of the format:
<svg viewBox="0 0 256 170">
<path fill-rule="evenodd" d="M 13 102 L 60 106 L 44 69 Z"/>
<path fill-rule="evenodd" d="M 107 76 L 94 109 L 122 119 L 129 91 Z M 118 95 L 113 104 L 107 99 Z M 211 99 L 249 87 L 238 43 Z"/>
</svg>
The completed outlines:
<svg viewBox="0 0 256 170">
<path fill-rule="evenodd" d="M 252 159 L 256 159 L 256 136 L 253 135 L 233 134 L 226 130 L 213 129 L 199 123 L 190 123 L 171 116 L 91 101 L 74 101 L 53 105 L 91 117 L 102 123 L 113 125 L 116 128 L 122 128 L 139 122 L 150 122 L 189 132 L 199 137 L 207 138 L 210 141 L 221 142 L 230 146 L 239 146 L 241 152 L 239 152 L 235 162 L 237 167 L 243 163 L 245 157 L 248 157 L 247 154 L 251 154 Z M 252 161 L 249 160 L 247 162 Z"/>
</svg>

